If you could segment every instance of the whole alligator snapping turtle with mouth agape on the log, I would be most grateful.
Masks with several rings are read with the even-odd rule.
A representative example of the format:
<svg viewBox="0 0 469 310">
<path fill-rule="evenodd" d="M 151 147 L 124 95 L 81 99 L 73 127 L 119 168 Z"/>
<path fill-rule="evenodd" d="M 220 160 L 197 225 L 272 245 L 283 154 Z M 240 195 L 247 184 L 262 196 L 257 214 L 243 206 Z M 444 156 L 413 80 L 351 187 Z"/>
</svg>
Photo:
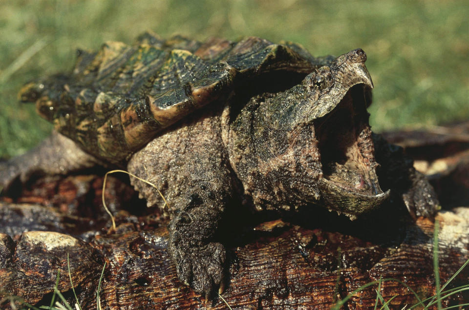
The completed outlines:
<svg viewBox="0 0 469 310">
<path fill-rule="evenodd" d="M 432 187 L 371 132 L 365 61 L 362 49 L 314 58 L 291 42 L 148 33 L 131 46 L 79 51 L 70 74 L 21 90 L 56 132 L 1 164 L 0 185 L 127 166 L 170 202 L 168 250 L 180 280 L 203 293 L 222 282 L 216 230 L 227 207 L 321 205 L 354 219 L 394 193 L 412 216 L 431 217 Z M 131 183 L 148 206 L 164 205 L 154 188 Z"/>
</svg>

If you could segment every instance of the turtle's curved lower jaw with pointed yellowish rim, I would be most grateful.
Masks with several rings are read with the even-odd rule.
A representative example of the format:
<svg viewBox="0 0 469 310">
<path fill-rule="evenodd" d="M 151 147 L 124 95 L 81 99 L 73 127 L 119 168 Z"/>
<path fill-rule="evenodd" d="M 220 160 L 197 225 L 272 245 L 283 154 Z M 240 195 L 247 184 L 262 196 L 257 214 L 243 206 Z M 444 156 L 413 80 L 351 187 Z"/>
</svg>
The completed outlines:
<svg viewBox="0 0 469 310">
<path fill-rule="evenodd" d="M 370 195 L 339 186 L 325 178 L 320 179 L 319 187 L 326 207 L 347 215 L 351 220 L 379 207 L 389 198 L 389 190 Z"/>
</svg>

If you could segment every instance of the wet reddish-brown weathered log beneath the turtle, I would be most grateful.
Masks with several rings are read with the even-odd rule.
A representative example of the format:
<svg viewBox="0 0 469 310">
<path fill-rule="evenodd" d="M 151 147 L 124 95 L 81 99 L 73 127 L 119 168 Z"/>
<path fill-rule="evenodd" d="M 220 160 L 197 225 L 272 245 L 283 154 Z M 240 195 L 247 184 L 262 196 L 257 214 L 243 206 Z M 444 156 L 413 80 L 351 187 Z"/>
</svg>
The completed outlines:
<svg viewBox="0 0 469 310">
<path fill-rule="evenodd" d="M 469 259 L 469 147 L 454 134 L 449 130 L 443 139 L 446 146 L 439 144 L 451 145 L 452 151 L 437 158 L 425 157 L 433 154 L 425 149 L 439 143 L 432 140 L 431 132 L 414 139 L 420 144 L 395 141 L 420 162 L 427 161 L 427 167 L 437 161 L 446 163 L 446 169 L 429 173 L 444 202 L 436 218 L 441 227 L 442 283 Z M 204 297 L 179 282 L 166 251 L 168 219 L 159 210 L 145 208 L 125 178 L 111 177 L 107 184 L 107 205 L 118 225 L 117 231 L 108 233 L 101 186 L 102 177 L 47 177 L 24 186 L 13 197 L 0 197 L 0 307 L 11 308 L 4 298 L 12 295 L 33 305 L 48 305 L 58 270 L 59 289 L 73 304 L 68 253 L 83 309 L 96 309 L 105 262 L 103 309 L 227 309 L 219 297 L 206 304 Z M 422 299 L 435 293 L 434 224 L 423 218 L 413 222 L 392 203 L 353 222 L 313 208 L 283 220 L 271 214 L 233 213 L 221 229 L 229 264 L 222 296 L 233 309 L 329 309 L 380 277 L 404 282 Z M 468 284 L 468 278 L 469 269 L 465 269 L 447 289 Z M 353 293 L 347 309 L 373 308 L 375 289 Z M 385 300 L 397 295 L 392 309 L 416 303 L 412 292 L 397 282 L 382 283 L 381 294 Z M 455 294 L 444 306 L 467 300 L 467 293 Z"/>
</svg>

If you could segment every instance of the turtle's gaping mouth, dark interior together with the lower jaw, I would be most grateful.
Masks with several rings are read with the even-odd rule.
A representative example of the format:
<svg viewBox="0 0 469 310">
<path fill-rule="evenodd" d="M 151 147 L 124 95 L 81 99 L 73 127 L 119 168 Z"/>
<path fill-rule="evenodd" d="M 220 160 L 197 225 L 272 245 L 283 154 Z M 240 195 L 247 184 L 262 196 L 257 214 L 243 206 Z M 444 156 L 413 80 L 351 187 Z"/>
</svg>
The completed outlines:
<svg viewBox="0 0 469 310">
<path fill-rule="evenodd" d="M 323 178 L 322 195 L 328 207 L 354 218 L 381 204 L 383 193 L 374 158 L 374 145 L 368 123 L 370 88 L 351 87 L 328 114 L 315 120 Z"/>
</svg>

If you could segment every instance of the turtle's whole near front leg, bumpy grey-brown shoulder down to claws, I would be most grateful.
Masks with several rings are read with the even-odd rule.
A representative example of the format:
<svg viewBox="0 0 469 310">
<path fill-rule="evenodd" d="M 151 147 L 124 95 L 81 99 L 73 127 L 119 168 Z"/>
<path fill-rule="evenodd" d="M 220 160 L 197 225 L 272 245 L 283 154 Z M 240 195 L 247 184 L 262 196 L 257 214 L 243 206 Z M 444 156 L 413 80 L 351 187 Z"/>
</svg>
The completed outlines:
<svg viewBox="0 0 469 310">
<path fill-rule="evenodd" d="M 179 279 L 210 295 L 223 280 L 225 249 L 217 234 L 219 221 L 226 208 L 239 204 L 219 111 L 200 111 L 155 138 L 130 158 L 128 171 L 154 184 L 168 202 L 153 187 L 130 178 L 149 207 L 165 206 L 171 215 L 168 252 Z"/>
</svg>

